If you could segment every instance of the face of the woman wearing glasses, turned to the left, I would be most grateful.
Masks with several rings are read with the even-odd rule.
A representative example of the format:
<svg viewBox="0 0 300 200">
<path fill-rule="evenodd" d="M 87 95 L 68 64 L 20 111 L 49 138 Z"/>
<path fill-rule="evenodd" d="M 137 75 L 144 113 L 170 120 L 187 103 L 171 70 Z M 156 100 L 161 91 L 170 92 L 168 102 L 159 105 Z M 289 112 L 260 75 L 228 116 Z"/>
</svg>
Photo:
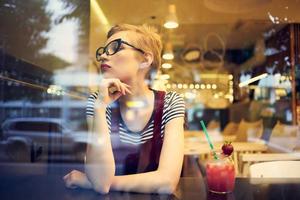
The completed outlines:
<svg viewBox="0 0 300 200">
<path fill-rule="evenodd" d="M 113 40 L 122 39 L 127 43 L 132 44 L 132 38 L 135 37 L 135 33 L 129 31 L 121 31 L 112 35 L 106 41 L 107 45 Z M 121 81 L 130 80 L 132 77 L 137 76 L 140 68 L 140 63 L 142 62 L 139 55 L 142 53 L 136 49 L 126 45 L 121 44 L 120 50 L 113 55 L 106 55 L 106 53 L 101 55 L 100 68 L 103 76 L 105 78 L 118 78 Z"/>
</svg>

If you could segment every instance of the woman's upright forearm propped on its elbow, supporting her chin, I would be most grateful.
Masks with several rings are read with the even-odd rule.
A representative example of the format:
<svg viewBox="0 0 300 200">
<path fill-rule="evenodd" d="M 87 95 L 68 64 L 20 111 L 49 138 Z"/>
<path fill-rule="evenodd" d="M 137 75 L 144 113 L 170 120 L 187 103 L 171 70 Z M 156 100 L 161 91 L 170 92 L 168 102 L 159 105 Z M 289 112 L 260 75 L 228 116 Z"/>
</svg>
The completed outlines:
<svg viewBox="0 0 300 200">
<path fill-rule="evenodd" d="M 108 193 L 115 173 L 115 163 L 108 125 L 106 108 L 95 107 L 94 125 L 89 133 L 85 172 L 93 189 Z"/>
</svg>

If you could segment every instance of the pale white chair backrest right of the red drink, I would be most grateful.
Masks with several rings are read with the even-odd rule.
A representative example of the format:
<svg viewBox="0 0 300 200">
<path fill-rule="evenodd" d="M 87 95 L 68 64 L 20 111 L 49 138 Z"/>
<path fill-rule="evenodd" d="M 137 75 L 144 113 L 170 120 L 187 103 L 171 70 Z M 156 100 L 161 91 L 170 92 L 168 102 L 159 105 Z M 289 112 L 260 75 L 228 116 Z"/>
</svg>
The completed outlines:
<svg viewBox="0 0 300 200">
<path fill-rule="evenodd" d="M 300 178 L 300 161 L 272 161 L 252 164 L 251 178 Z"/>
</svg>

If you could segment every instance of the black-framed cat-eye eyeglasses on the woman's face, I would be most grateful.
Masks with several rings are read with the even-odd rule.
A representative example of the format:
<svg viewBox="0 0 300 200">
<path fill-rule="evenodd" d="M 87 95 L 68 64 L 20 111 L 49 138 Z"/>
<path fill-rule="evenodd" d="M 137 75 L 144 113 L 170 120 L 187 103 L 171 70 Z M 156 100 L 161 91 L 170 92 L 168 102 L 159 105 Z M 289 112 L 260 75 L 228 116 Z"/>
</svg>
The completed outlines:
<svg viewBox="0 0 300 200">
<path fill-rule="evenodd" d="M 114 55 L 115 53 L 117 53 L 118 51 L 121 50 L 121 45 L 122 44 L 126 44 L 126 45 L 130 46 L 133 49 L 141 52 L 142 54 L 145 53 L 142 49 L 139 49 L 139 48 L 129 44 L 128 42 L 126 42 L 122 39 L 116 39 L 116 40 L 113 40 L 113 41 L 109 42 L 105 47 L 99 47 L 96 50 L 96 60 L 101 61 L 101 55 L 104 54 L 104 53 L 106 53 L 106 55 L 108 55 L 108 56 Z"/>
</svg>

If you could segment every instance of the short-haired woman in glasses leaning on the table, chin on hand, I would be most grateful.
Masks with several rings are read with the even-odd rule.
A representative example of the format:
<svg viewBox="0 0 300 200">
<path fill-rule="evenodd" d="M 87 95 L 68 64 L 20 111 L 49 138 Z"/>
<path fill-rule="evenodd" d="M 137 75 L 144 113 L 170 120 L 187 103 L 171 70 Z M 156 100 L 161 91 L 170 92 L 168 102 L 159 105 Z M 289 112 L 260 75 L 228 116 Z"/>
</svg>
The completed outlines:
<svg viewBox="0 0 300 200">
<path fill-rule="evenodd" d="M 149 88 L 161 64 L 161 41 L 146 26 L 122 24 L 97 50 L 103 80 L 89 97 L 85 173 L 64 177 L 67 187 L 173 193 L 183 162 L 184 102 Z"/>
</svg>

